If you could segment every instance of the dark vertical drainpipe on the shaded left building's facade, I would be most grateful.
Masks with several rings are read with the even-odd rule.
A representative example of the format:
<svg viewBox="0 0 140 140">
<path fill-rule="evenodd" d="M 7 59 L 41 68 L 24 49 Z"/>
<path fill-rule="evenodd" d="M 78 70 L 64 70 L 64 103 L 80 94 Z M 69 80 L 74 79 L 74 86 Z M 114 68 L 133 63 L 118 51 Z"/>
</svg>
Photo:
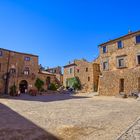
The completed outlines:
<svg viewBox="0 0 140 140">
<path fill-rule="evenodd" d="M 10 78 L 9 65 L 10 65 L 10 51 L 8 54 L 7 71 L 6 71 L 6 79 L 5 79 L 5 94 L 6 95 L 8 94 L 8 88 L 9 88 L 9 78 Z"/>
</svg>

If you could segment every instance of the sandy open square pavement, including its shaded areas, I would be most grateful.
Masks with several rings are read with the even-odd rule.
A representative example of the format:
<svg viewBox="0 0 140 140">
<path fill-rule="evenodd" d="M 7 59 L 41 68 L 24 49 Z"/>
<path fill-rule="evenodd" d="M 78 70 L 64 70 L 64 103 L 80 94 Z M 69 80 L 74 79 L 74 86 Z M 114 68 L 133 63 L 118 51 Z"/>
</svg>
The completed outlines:
<svg viewBox="0 0 140 140">
<path fill-rule="evenodd" d="M 135 99 L 82 94 L 3 98 L 0 140 L 115 140 L 139 116 Z"/>
</svg>

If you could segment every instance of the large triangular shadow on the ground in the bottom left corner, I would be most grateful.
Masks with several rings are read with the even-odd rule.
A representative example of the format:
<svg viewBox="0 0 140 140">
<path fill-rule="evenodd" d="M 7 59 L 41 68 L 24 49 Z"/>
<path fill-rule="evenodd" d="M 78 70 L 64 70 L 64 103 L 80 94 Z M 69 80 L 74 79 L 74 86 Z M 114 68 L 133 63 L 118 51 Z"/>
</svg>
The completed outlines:
<svg viewBox="0 0 140 140">
<path fill-rule="evenodd" d="M 0 140 L 59 140 L 0 103 Z"/>
</svg>

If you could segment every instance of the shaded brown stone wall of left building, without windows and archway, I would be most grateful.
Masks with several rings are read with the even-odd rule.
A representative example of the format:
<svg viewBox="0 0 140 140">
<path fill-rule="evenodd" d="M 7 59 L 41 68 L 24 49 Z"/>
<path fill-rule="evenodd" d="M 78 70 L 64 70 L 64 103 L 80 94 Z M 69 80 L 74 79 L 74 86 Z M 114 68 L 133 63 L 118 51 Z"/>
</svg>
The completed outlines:
<svg viewBox="0 0 140 140">
<path fill-rule="evenodd" d="M 38 56 L 26 53 L 19 53 L 14 51 L 9 51 L 5 49 L 0 49 L 2 51 L 2 56 L 0 56 L 0 93 L 4 93 L 5 90 L 5 80 L 4 75 L 10 72 L 11 68 L 16 70 L 15 73 L 10 73 L 8 89 L 10 91 L 10 87 L 14 84 L 17 87 L 17 91 L 19 91 L 19 84 L 21 81 L 25 80 L 28 83 L 28 91 L 30 89 L 36 89 L 35 81 L 37 78 L 40 78 L 44 81 L 44 89 L 47 89 L 48 85 L 46 85 L 46 78 L 49 76 L 51 82 L 56 81 L 55 75 L 46 75 L 39 73 L 39 66 L 38 66 Z M 29 57 L 30 60 L 26 61 L 25 57 Z M 8 67 L 8 58 L 9 58 L 9 67 Z M 25 75 L 23 72 L 25 68 L 29 68 L 29 75 Z"/>
</svg>

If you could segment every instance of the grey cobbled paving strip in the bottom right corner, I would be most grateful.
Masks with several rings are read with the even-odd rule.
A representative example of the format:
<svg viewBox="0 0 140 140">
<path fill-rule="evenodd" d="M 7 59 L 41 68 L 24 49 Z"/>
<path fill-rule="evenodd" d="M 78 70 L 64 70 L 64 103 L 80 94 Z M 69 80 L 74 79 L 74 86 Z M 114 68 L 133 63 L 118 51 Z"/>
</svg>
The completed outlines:
<svg viewBox="0 0 140 140">
<path fill-rule="evenodd" d="M 118 138 L 118 140 L 140 140 L 140 119 Z"/>
</svg>

